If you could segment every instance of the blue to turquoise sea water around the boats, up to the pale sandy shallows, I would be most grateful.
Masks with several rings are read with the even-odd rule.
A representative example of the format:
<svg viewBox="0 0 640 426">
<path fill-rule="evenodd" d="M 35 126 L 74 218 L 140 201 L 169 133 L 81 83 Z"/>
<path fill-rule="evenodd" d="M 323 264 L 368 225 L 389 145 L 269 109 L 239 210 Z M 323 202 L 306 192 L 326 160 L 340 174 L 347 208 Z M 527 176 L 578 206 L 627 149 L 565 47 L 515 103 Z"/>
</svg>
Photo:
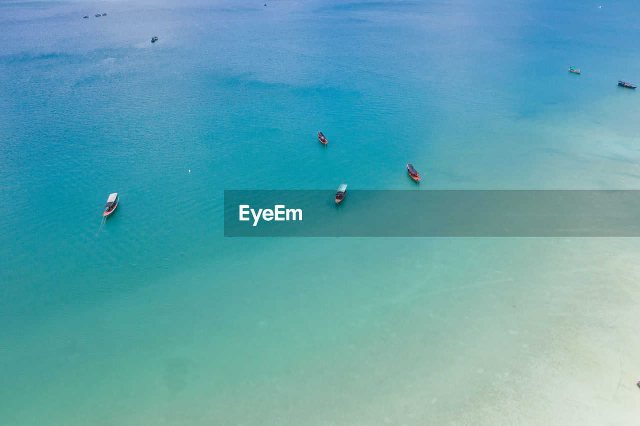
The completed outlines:
<svg viewBox="0 0 640 426">
<path fill-rule="evenodd" d="M 640 189 L 634 3 L 267 3 L 0 4 L 0 423 L 536 424 L 476 393 L 637 241 L 225 239 L 223 190 Z"/>
</svg>

